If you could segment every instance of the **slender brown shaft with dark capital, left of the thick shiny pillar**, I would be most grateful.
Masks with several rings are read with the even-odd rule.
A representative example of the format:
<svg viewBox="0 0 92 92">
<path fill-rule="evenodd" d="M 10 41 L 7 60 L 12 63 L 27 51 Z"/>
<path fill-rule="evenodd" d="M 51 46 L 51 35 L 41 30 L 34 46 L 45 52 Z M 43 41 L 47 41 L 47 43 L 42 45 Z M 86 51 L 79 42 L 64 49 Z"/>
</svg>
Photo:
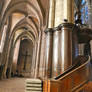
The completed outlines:
<svg viewBox="0 0 92 92">
<path fill-rule="evenodd" d="M 52 56 L 53 56 L 53 29 L 49 28 L 46 33 L 46 49 L 45 49 L 45 78 L 52 76 Z"/>
</svg>

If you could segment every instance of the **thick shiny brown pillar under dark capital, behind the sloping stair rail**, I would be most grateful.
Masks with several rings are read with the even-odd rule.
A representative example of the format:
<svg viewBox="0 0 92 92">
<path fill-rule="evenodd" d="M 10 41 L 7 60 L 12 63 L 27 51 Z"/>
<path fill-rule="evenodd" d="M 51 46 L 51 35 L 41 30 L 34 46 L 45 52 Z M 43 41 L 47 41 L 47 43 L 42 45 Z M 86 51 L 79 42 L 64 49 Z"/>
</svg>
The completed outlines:
<svg viewBox="0 0 92 92">
<path fill-rule="evenodd" d="M 72 66 L 72 24 L 58 26 L 53 33 L 52 77 Z"/>
</svg>

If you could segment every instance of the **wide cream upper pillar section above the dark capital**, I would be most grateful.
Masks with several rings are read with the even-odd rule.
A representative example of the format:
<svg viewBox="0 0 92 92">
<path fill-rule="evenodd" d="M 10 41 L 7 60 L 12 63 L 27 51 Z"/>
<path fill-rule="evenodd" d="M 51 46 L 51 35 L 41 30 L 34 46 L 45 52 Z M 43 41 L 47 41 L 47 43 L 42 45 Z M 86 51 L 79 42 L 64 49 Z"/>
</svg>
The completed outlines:
<svg viewBox="0 0 92 92">
<path fill-rule="evenodd" d="M 73 22 L 73 0 L 56 0 L 55 5 L 55 27 L 67 19 Z"/>
</svg>

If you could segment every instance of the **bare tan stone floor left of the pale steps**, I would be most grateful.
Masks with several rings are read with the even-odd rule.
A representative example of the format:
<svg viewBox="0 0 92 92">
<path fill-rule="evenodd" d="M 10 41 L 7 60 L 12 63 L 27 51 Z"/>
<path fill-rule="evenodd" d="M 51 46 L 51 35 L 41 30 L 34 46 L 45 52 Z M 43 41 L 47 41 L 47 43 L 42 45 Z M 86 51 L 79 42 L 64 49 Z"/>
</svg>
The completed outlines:
<svg viewBox="0 0 92 92">
<path fill-rule="evenodd" d="M 0 92 L 25 92 L 25 78 L 0 80 Z"/>
</svg>

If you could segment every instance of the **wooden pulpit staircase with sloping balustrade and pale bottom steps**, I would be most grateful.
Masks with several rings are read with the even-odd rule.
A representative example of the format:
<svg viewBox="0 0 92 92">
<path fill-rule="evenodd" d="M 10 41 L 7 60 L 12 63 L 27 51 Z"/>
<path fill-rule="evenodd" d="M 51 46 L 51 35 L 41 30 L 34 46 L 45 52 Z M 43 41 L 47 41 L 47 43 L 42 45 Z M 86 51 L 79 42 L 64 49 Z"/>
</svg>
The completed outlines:
<svg viewBox="0 0 92 92">
<path fill-rule="evenodd" d="M 76 61 L 74 66 L 56 78 L 27 79 L 25 92 L 80 92 L 89 81 L 90 58 L 79 56 Z"/>
</svg>

